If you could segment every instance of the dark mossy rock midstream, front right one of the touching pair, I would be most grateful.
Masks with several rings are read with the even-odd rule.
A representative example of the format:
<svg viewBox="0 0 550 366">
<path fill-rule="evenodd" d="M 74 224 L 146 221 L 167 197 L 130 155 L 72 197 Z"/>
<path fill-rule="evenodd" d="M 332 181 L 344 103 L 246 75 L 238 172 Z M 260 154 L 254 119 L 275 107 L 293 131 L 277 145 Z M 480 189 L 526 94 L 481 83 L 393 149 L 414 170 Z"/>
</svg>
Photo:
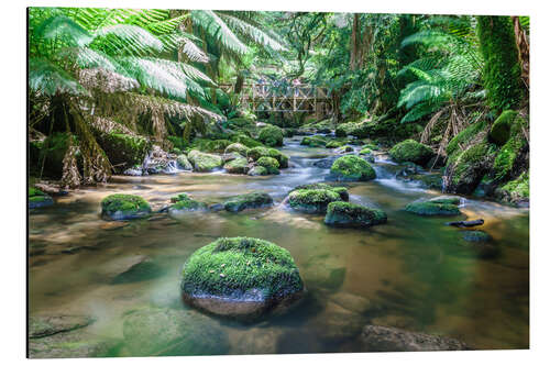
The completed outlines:
<svg viewBox="0 0 550 366">
<path fill-rule="evenodd" d="M 331 202 L 327 209 L 324 223 L 339 228 L 370 228 L 387 222 L 387 215 L 378 209 L 350 202 Z"/>
</svg>

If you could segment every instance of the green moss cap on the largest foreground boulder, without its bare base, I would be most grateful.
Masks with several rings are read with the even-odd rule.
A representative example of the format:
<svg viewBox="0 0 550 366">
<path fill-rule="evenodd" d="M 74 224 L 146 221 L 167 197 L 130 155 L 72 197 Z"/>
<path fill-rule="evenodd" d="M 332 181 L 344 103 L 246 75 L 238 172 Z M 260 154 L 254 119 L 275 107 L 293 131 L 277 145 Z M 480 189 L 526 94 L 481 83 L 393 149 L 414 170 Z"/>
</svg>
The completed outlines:
<svg viewBox="0 0 550 366">
<path fill-rule="evenodd" d="M 182 275 L 182 289 L 188 295 L 242 296 L 261 290 L 266 299 L 279 299 L 304 290 L 290 253 L 252 237 L 220 237 L 199 248 Z"/>
</svg>

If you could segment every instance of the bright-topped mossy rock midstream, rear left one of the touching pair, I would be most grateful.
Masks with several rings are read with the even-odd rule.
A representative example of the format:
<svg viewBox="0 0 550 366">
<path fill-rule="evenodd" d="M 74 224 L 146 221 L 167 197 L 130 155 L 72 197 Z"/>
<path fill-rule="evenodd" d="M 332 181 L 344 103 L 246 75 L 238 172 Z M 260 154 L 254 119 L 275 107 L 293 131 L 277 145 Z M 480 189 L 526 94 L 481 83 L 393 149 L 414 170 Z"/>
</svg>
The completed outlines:
<svg viewBox="0 0 550 366">
<path fill-rule="evenodd" d="M 288 195 L 288 206 L 307 213 L 326 213 L 330 202 L 342 201 L 339 191 L 333 189 L 297 189 Z"/>
</svg>

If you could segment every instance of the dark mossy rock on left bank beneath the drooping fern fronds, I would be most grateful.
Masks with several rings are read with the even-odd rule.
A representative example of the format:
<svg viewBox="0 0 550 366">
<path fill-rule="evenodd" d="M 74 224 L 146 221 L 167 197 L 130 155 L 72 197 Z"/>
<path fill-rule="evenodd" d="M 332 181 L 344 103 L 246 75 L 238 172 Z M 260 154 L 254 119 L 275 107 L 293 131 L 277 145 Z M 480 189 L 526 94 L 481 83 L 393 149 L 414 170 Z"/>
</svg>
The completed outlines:
<svg viewBox="0 0 550 366">
<path fill-rule="evenodd" d="M 102 134 L 98 138 L 109 162 L 123 168 L 141 165 L 152 148 L 152 144 L 142 136 L 123 133 Z"/>
</svg>

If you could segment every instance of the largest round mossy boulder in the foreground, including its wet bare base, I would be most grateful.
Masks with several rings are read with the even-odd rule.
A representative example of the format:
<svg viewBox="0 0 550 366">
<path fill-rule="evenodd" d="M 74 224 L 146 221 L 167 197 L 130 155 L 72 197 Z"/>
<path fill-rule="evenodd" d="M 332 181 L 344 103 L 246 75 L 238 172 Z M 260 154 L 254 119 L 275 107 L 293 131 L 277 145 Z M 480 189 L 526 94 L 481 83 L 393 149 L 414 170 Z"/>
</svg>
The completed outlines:
<svg viewBox="0 0 550 366">
<path fill-rule="evenodd" d="M 252 237 L 220 237 L 196 251 L 182 274 L 185 302 L 246 321 L 286 309 L 305 290 L 290 253 Z"/>
</svg>

